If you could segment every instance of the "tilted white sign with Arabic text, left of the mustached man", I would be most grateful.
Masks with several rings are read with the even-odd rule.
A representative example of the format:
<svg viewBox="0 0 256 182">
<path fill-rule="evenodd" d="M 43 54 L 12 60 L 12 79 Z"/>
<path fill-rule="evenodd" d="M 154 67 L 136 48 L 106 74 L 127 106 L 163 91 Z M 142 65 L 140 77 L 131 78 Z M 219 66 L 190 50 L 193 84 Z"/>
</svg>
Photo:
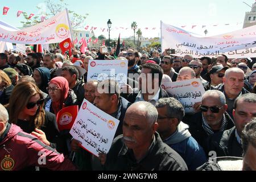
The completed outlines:
<svg viewBox="0 0 256 182">
<path fill-rule="evenodd" d="M 119 121 L 84 99 L 69 133 L 82 143 L 82 148 L 98 156 L 107 154 Z"/>
</svg>

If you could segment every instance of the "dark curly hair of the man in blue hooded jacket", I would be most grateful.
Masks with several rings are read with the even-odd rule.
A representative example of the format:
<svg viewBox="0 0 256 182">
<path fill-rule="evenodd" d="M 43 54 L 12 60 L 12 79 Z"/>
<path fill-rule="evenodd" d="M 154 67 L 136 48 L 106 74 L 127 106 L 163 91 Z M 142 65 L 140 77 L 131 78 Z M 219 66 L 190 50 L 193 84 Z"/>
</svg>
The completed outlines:
<svg viewBox="0 0 256 182">
<path fill-rule="evenodd" d="M 185 110 L 180 101 L 175 98 L 160 98 L 156 102 L 156 108 L 167 106 L 167 117 L 176 118 L 180 122 L 185 115 Z"/>
</svg>

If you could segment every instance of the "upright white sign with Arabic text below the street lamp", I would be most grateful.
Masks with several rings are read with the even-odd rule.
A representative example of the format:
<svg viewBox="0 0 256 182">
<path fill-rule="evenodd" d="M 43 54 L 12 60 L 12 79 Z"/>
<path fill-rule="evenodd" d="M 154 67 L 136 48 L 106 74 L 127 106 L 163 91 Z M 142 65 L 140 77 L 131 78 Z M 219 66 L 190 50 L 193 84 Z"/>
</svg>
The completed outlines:
<svg viewBox="0 0 256 182">
<path fill-rule="evenodd" d="M 127 60 L 89 60 L 87 80 L 113 79 L 121 87 L 127 82 Z"/>
</svg>

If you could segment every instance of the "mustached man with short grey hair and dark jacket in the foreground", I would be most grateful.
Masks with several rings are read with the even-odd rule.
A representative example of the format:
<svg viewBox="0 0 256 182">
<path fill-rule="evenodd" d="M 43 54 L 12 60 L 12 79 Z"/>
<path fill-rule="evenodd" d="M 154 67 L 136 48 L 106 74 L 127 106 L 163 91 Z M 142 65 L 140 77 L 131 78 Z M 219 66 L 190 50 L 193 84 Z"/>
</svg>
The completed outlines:
<svg viewBox="0 0 256 182">
<path fill-rule="evenodd" d="M 114 139 L 105 162 L 106 170 L 185 171 L 177 152 L 163 143 L 156 129 L 158 111 L 148 102 L 131 105 L 123 119 L 123 135 Z"/>
</svg>

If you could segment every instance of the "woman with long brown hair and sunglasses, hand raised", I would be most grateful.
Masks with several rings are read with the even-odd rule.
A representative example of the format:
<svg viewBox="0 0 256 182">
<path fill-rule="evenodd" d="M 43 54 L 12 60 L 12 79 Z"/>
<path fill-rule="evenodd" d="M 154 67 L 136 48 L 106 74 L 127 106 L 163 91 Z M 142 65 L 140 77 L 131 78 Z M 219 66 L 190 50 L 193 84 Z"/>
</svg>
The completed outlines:
<svg viewBox="0 0 256 182">
<path fill-rule="evenodd" d="M 9 122 L 31 133 L 44 144 L 56 147 L 57 129 L 55 115 L 43 109 L 44 99 L 39 88 L 32 82 L 21 82 L 11 93 Z"/>
</svg>

